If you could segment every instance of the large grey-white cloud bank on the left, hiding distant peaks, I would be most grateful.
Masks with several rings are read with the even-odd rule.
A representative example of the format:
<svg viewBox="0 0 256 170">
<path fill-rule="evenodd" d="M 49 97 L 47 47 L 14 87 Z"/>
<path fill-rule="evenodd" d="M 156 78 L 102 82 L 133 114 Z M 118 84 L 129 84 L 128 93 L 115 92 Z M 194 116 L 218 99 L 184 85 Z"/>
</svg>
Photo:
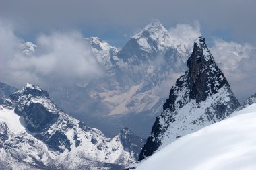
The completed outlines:
<svg viewBox="0 0 256 170">
<path fill-rule="evenodd" d="M 0 80 L 11 85 L 72 85 L 102 75 L 102 68 L 79 32 L 42 34 L 36 39 L 36 52 L 30 56 L 18 51 L 22 40 L 4 22 L 0 22 L 0 37 Z"/>
</svg>

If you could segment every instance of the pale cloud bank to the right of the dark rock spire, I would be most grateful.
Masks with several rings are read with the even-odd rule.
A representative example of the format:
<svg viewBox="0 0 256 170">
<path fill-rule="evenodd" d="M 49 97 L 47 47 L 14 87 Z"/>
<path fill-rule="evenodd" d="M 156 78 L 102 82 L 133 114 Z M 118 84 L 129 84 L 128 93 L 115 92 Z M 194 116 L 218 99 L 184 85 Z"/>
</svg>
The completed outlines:
<svg viewBox="0 0 256 170">
<path fill-rule="evenodd" d="M 256 92 L 256 50 L 250 44 L 214 39 L 212 55 L 241 101 Z"/>
</svg>

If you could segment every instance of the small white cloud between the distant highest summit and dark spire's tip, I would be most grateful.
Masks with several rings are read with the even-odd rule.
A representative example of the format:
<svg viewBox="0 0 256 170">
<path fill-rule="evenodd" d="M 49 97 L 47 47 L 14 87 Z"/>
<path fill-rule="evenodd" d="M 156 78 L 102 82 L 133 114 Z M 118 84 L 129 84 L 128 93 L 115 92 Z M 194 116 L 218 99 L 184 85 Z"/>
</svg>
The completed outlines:
<svg viewBox="0 0 256 170">
<path fill-rule="evenodd" d="M 201 36 L 199 22 L 193 22 L 193 24 L 177 24 L 175 27 L 170 28 L 169 32 L 175 44 L 185 44 L 191 51 L 193 50 L 195 39 Z"/>
</svg>

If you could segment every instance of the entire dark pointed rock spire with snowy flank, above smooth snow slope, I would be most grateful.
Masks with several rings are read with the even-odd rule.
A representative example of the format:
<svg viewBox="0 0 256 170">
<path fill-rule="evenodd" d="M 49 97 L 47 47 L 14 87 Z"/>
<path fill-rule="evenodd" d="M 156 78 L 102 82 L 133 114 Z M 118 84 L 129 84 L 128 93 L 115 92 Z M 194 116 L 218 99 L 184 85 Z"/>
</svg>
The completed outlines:
<svg viewBox="0 0 256 170">
<path fill-rule="evenodd" d="M 170 89 L 170 96 L 152 126 L 139 161 L 185 134 L 223 120 L 239 107 L 203 37 L 195 41 L 187 67 L 185 75 Z"/>
</svg>

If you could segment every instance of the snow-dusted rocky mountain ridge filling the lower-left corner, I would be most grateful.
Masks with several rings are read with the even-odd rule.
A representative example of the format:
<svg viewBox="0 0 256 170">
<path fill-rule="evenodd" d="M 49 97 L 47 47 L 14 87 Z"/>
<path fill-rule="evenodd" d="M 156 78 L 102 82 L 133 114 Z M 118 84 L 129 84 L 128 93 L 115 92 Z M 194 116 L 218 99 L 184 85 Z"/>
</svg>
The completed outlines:
<svg viewBox="0 0 256 170">
<path fill-rule="evenodd" d="M 30 84 L 1 105 L 0 125 L 0 164 L 7 169 L 121 169 L 145 142 L 128 128 L 106 138 Z"/>
</svg>

